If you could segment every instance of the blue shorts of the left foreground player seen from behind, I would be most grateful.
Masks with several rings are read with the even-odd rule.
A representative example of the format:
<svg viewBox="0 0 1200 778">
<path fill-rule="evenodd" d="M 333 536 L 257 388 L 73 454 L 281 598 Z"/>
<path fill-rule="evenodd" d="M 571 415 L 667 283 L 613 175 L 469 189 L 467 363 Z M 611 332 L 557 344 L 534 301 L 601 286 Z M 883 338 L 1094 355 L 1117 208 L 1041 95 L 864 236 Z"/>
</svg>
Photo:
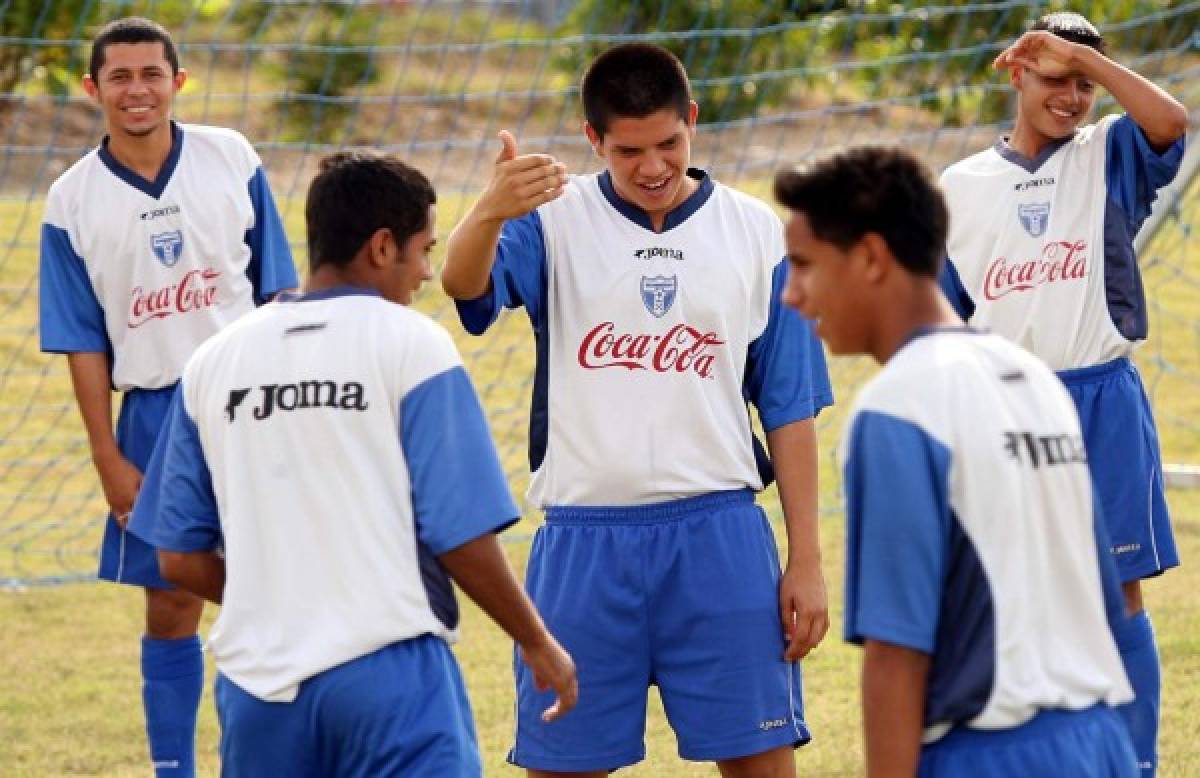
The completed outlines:
<svg viewBox="0 0 1200 778">
<path fill-rule="evenodd" d="M 482 774 L 467 690 L 440 638 L 330 668 L 292 702 L 259 700 L 223 675 L 215 696 L 224 778 Z"/>
</svg>

